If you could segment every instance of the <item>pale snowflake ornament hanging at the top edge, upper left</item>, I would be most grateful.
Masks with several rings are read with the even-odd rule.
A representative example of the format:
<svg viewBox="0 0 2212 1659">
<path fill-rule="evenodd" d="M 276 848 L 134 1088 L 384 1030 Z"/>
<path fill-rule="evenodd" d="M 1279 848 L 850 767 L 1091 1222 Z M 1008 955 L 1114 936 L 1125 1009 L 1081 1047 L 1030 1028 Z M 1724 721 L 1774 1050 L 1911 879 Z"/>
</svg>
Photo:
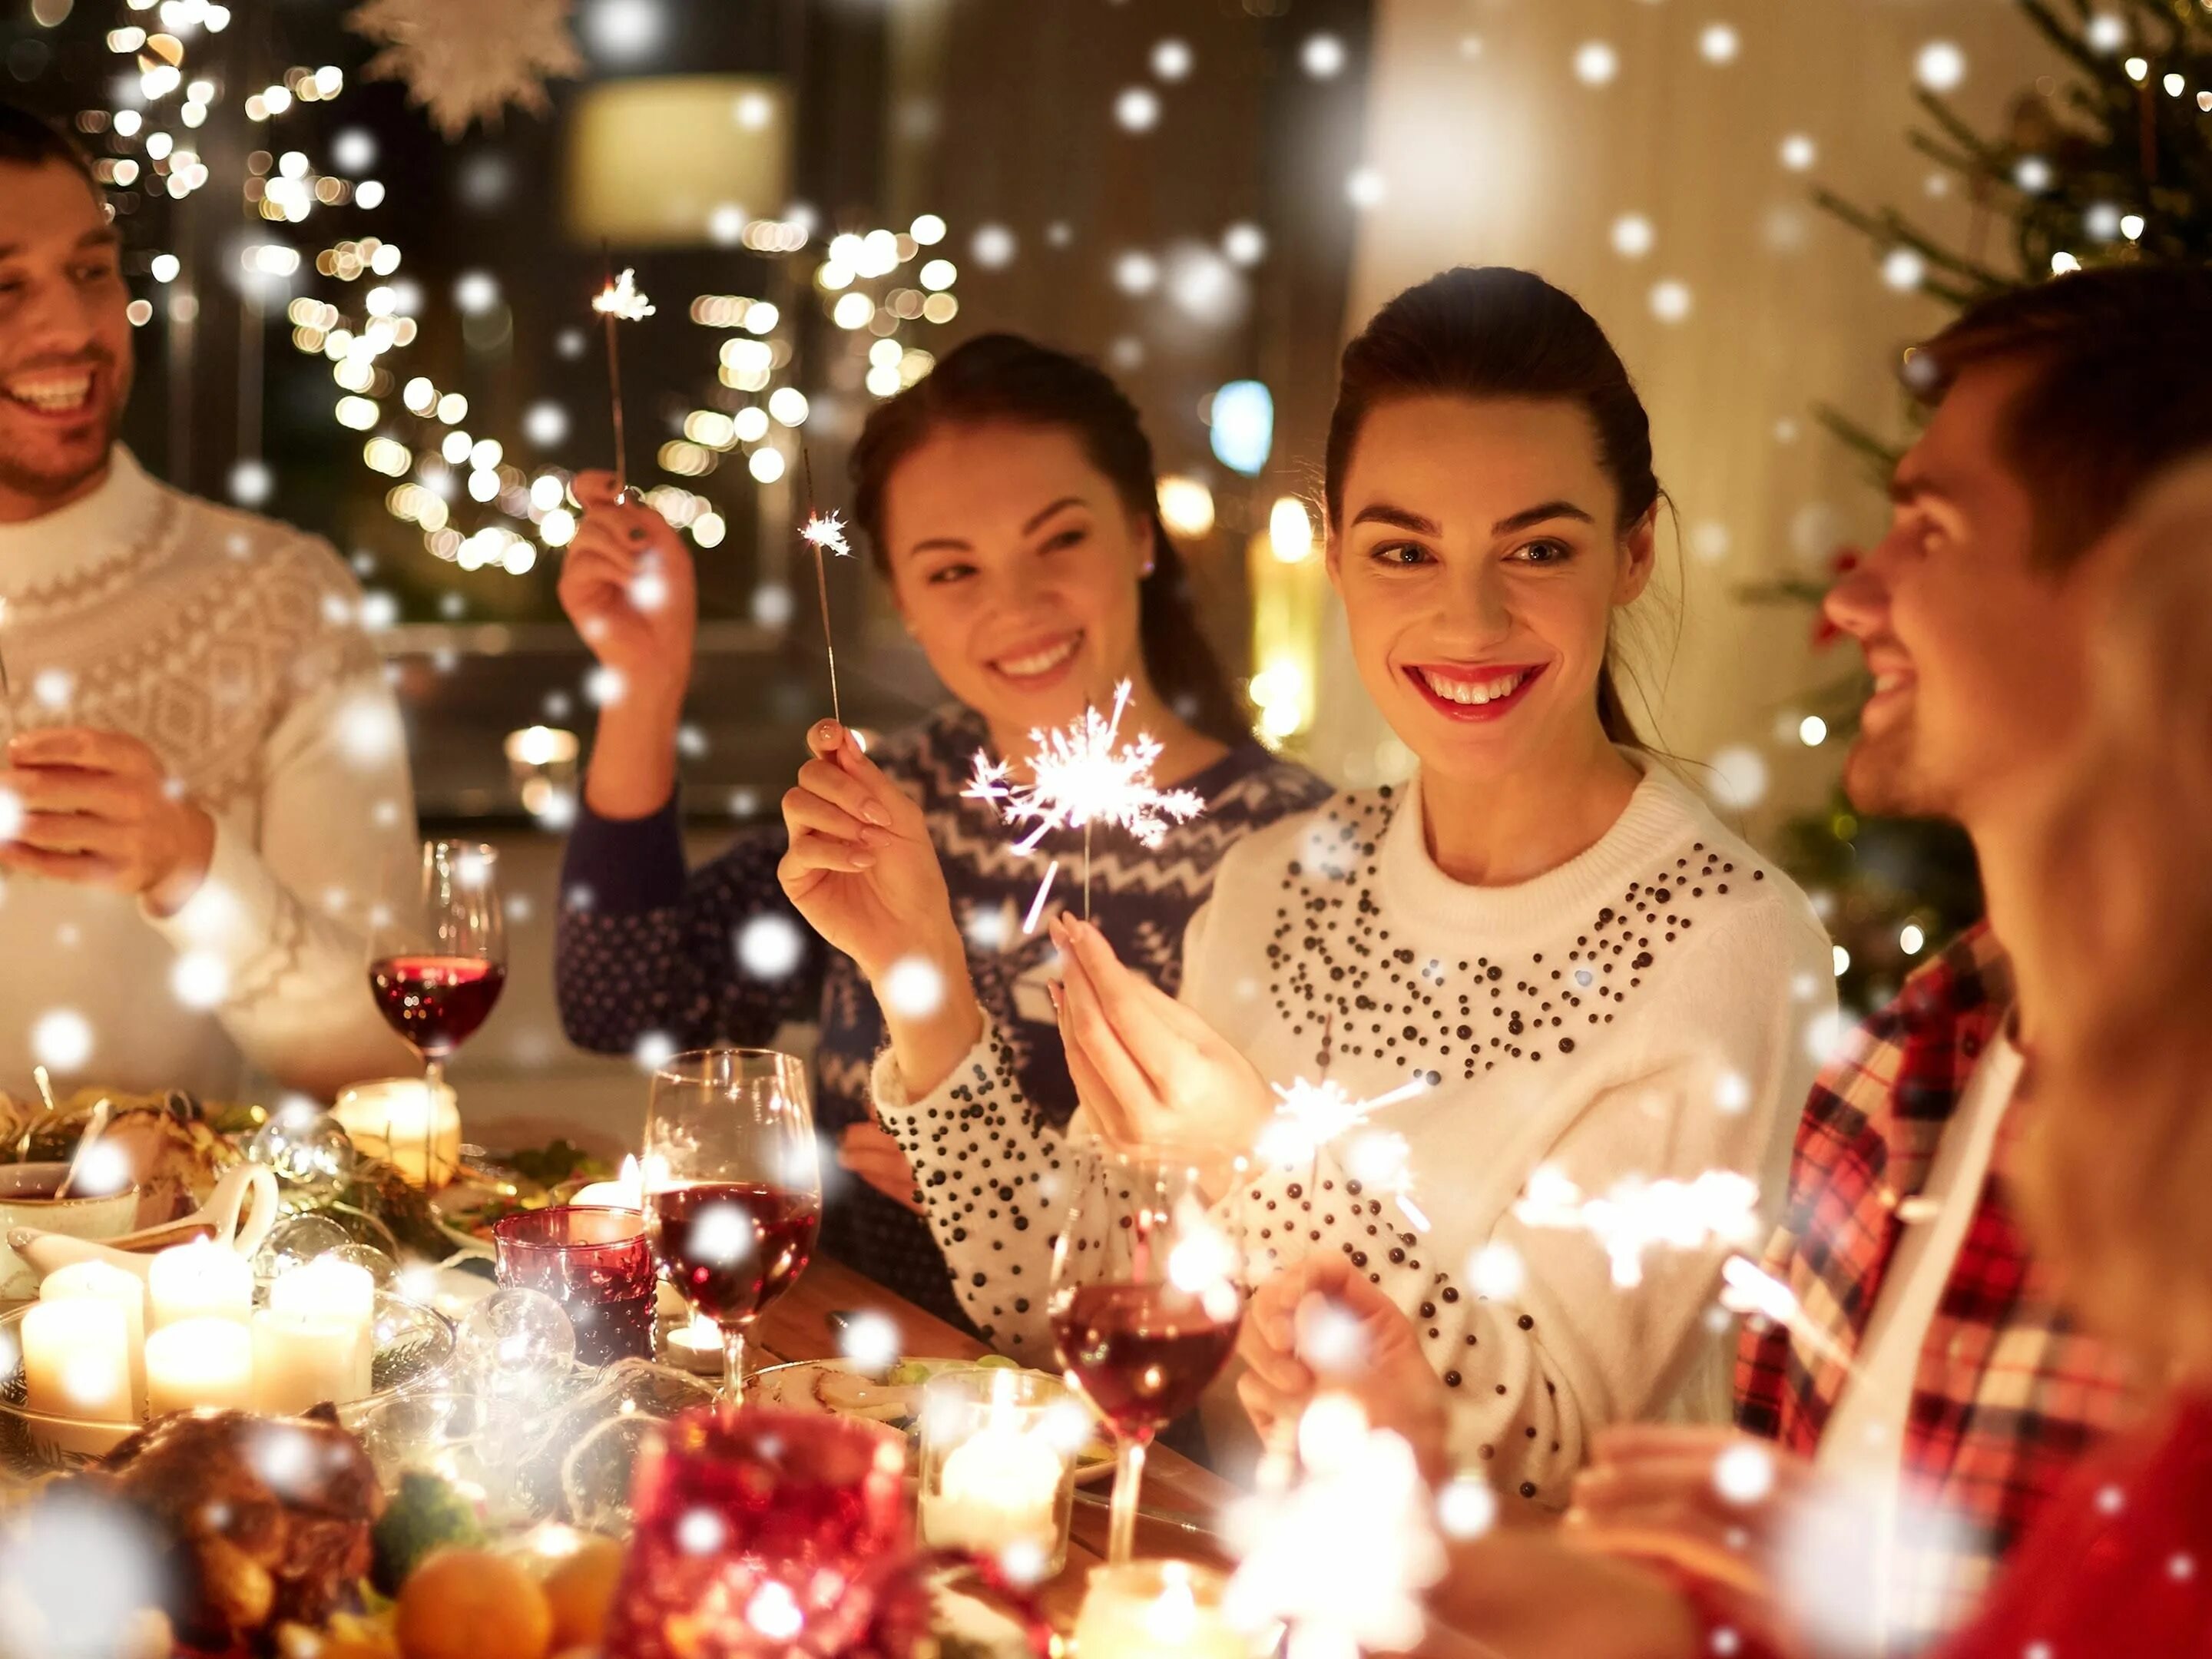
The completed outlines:
<svg viewBox="0 0 2212 1659">
<path fill-rule="evenodd" d="M 498 126 L 515 104 L 546 115 L 549 77 L 584 73 L 568 33 L 571 0 L 365 0 L 345 27 L 383 46 L 376 80 L 407 82 L 451 144 L 469 122 Z"/>
</svg>

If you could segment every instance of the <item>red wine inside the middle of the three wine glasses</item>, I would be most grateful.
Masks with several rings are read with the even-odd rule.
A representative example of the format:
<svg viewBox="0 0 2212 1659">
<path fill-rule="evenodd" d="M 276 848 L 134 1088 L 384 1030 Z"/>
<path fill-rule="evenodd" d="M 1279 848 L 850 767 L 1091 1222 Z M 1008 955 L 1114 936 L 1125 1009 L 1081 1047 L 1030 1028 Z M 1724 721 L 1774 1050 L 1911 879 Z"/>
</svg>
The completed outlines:
<svg viewBox="0 0 2212 1659">
<path fill-rule="evenodd" d="M 717 1325 L 743 1325 L 807 1270 L 821 1217 L 812 1192 L 701 1181 L 648 1197 L 646 1237 L 684 1301 Z"/>
</svg>

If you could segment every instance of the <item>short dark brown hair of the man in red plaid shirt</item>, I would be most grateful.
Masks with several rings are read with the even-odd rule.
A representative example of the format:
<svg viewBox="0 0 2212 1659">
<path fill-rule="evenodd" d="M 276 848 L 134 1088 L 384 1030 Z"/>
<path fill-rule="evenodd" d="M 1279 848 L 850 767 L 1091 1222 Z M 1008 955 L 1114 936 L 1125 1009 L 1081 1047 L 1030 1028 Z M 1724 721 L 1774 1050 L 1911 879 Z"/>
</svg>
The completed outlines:
<svg viewBox="0 0 2212 1659">
<path fill-rule="evenodd" d="M 1997 453 L 2035 502 L 2035 557 L 2062 571 L 2159 471 L 2212 445 L 2212 270 L 2106 265 L 1969 307 L 1905 356 L 1940 403 L 1960 374 L 2033 365 Z"/>
</svg>

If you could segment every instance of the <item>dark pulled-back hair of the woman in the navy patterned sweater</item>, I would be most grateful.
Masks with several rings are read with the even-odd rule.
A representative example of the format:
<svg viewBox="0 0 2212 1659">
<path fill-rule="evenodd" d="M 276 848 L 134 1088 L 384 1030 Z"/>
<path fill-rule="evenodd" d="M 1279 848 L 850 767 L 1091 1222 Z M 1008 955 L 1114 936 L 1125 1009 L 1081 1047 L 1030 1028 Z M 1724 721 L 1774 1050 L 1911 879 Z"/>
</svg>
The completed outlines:
<svg viewBox="0 0 2212 1659">
<path fill-rule="evenodd" d="M 1137 637 L 1152 688 L 1168 708 L 1221 743 L 1250 737 L 1250 721 L 1199 628 L 1181 553 L 1159 522 L 1152 440 L 1137 405 L 1102 369 L 1020 334 L 978 334 L 898 396 L 876 405 L 852 449 L 852 513 L 876 568 L 889 575 L 883 491 L 907 456 L 947 425 L 1060 427 L 1113 484 L 1128 513 L 1152 529 L 1152 575 L 1139 588 Z"/>
</svg>

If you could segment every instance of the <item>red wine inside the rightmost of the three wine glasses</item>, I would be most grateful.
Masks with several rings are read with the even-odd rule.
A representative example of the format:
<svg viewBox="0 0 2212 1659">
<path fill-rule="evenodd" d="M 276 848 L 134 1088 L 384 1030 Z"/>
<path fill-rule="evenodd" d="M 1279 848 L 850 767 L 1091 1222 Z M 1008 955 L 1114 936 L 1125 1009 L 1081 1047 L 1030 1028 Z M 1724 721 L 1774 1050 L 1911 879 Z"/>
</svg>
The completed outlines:
<svg viewBox="0 0 2212 1659">
<path fill-rule="evenodd" d="M 1060 1365 L 1115 1436 L 1150 1438 L 1190 1411 L 1237 1347 L 1237 1318 L 1217 1321 L 1170 1285 L 1084 1285 L 1053 1312 Z"/>
</svg>

